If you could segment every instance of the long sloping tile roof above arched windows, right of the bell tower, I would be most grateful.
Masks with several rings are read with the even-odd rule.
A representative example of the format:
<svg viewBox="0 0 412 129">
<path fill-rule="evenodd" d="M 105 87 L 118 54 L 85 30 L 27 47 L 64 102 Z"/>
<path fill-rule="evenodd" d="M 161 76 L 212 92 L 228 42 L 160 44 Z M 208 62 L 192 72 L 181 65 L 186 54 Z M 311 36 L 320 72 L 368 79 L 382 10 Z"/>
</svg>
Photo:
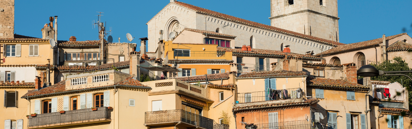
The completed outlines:
<svg viewBox="0 0 412 129">
<path fill-rule="evenodd" d="M 394 39 L 402 35 L 406 35 L 406 33 L 388 36 L 386 37 L 386 40 L 391 40 L 391 39 Z M 351 43 L 351 44 L 346 44 L 346 45 L 340 45 L 338 47 L 326 50 L 325 52 L 316 54 L 315 56 L 321 56 L 321 55 L 328 56 L 328 55 L 335 55 L 335 54 L 344 53 L 344 52 L 356 51 L 360 49 L 367 49 L 370 47 L 379 46 L 380 43 L 382 43 L 382 38 L 377 38 L 374 40 L 368 40 L 368 41 L 363 41 L 363 42 L 356 42 L 356 43 Z"/>
</svg>

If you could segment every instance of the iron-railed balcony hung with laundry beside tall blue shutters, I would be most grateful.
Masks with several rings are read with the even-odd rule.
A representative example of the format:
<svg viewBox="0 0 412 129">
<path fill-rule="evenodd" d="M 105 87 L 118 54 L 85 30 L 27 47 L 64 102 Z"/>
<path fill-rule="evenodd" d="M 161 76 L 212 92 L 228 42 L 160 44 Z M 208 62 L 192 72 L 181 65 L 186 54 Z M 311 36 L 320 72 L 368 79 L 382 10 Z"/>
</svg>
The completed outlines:
<svg viewBox="0 0 412 129">
<path fill-rule="evenodd" d="M 300 99 L 303 91 L 300 88 L 237 93 L 237 103 L 251 103 L 260 101 Z"/>
</svg>

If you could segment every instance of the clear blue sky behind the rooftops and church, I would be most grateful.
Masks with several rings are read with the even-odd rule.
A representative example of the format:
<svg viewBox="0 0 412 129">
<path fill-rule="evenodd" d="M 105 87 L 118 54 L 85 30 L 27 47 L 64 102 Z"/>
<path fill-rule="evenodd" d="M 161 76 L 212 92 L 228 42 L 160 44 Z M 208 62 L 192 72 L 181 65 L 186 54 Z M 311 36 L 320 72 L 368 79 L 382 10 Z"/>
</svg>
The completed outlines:
<svg viewBox="0 0 412 129">
<path fill-rule="evenodd" d="M 178 0 L 216 12 L 270 25 L 269 0 Z M 58 40 L 75 36 L 77 41 L 97 40 L 92 28 L 97 12 L 112 27 L 114 41 L 147 37 L 147 21 L 170 0 L 16 0 L 14 33 L 41 38 L 49 16 L 58 17 Z M 54 5 L 52 5 L 54 4 Z M 412 33 L 412 0 L 338 0 L 339 37 L 342 43 L 381 38 L 382 34 Z M 54 7 L 54 8 L 52 8 Z M 133 40 L 132 42 L 138 42 Z M 139 51 L 139 50 L 138 50 Z"/>
</svg>

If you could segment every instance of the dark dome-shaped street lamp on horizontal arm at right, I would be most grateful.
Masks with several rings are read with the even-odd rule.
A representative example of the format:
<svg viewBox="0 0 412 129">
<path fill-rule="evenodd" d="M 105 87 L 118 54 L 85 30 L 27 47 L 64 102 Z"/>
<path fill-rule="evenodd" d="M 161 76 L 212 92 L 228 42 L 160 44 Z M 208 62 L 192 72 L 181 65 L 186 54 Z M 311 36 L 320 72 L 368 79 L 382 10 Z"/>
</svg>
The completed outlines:
<svg viewBox="0 0 412 129">
<path fill-rule="evenodd" d="M 412 73 L 412 70 L 406 70 L 406 71 L 382 71 L 378 70 L 374 66 L 371 65 L 364 65 L 361 68 L 356 71 L 358 76 L 363 76 L 363 77 L 375 77 L 379 75 L 385 75 L 385 76 L 406 76 L 409 77 L 408 75 L 405 74 L 385 74 L 385 73 Z M 410 80 L 412 80 L 411 77 L 409 77 Z"/>
</svg>

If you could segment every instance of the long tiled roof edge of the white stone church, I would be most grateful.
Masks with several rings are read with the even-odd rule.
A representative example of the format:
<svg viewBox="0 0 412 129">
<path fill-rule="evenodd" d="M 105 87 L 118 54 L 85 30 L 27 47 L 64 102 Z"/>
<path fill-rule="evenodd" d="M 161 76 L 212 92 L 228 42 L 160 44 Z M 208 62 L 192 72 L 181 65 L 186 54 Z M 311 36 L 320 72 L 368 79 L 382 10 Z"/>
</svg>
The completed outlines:
<svg viewBox="0 0 412 129">
<path fill-rule="evenodd" d="M 226 19 L 228 21 L 243 23 L 243 24 L 246 24 L 248 26 L 255 26 L 257 28 L 272 30 L 272 31 L 275 31 L 275 32 L 284 33 L 284 34 L 288 34 L 288 35 L 293 35 L 293 36 L 297 36 L 297 37 L 301 37 L 301 38 L 306 38 L 308 40 L 323 42 L 323 43 L 330 44 L 330 45 L 344 45 L 343 43 L 339 43 L 339 42 L 335 42 L 335 41 L 331 41 L 331 40 L 326 40 L 326 39 L 322 39 L 322 38 L 317 38 L 317 37 L 313 37 L 313 36 L 310 36 L 310 35 L 304 35 L 304 34 L 301 34 L 301 33 L 297 33 L 297 32 L 293 32 L 293 31 L 290 31 L 290 30 L 277 28 L 277 27 L 274 27 L 274 26 L 265 25 L 265 24 L 262 24 L 262 23 L 248 21 L 248 20 L 241 19 L 241 18 L 238 18 L 238 17 L 234 17 L 234 16 L 230 16 L 230 15 L 227 15 L 227 14 L 222 14 L 222 13 L 219 13 L 219 12 L 215 12 L 215 11 L 212 11 L 212 10 L 209 10 L 209 9 L 204 9 L 204 8 L 201 8 L 201 7 L 190 5 L 190 4 L 187 4 L 187 3 L 184 3 L 184 2 L 175 1 L 174 3 L 176 3 L 177 5 L 186 7 L 188 9 L 192 9 L 197 13 L 216 16 L 216 17 L 219 17 L 219 18 L 222 18 L 222 19 Z"/>
</svg>

